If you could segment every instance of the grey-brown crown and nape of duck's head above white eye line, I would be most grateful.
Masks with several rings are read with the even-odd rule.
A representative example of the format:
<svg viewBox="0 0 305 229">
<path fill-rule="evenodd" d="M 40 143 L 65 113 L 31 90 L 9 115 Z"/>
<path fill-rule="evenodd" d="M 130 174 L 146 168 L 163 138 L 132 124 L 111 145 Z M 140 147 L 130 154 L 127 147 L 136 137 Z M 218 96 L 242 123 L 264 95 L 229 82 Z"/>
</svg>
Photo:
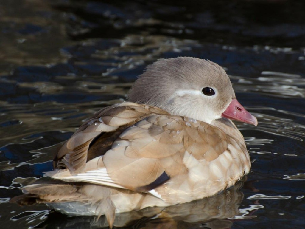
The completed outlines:
<svg viewBox="0 0 305 229">
<path fill-rule="evenodd" d="M 206 86 L 219 85 L 219 91 L 228 91 L 235 97 L 229 77 L 218 64 L 194 57 L 177 57 L 160 59 L 146 67 L 129 90 L 127 99 L 164 109 L 164 103 L 175 91 L 194 87 L 201 90 L 203 82 Z"/>
</svg>

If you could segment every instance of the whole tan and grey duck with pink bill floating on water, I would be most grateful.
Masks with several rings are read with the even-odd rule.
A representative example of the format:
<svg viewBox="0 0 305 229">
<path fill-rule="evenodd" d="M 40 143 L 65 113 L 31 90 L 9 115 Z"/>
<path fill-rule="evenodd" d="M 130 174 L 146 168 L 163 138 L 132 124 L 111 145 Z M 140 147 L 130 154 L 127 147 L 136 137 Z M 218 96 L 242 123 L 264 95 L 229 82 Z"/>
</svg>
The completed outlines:
<svg viewBox="0 0 305 229">
<path fill-rule="evenodd" d="M 56 153 L 46 181 L 11 202 L 45 203 L 69 216 L 106 216 L 203 199 L 250 171 L 231 120 L 257 125 L 218 64 L 195 57 L 146 67 L 127 102 L 104 107 Z"/>
</svg>

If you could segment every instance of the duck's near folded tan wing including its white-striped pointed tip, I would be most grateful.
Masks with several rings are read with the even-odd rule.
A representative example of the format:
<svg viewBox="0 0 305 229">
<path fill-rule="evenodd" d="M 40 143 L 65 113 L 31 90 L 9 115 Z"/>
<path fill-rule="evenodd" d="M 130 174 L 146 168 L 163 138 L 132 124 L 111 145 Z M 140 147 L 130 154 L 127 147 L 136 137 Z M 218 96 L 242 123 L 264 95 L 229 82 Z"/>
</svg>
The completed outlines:
<svg viewBox="0 0 305 229">
<path fill-rule="evenodd" d="M 115 112 L 113 114 L 121 118 Z M 140 120 L 134 118 L 131 121 L 134 124 L 120 132 L 111 148 L 85 163 L 81 172 L 72 174 L 69 171 L 70 175 L 53 177 L 146 192 L 169 182 L 174 176 L 187 174 L 189 166 L 206 164 L 227 150 L 229 139 L 215 126 L 160 112 L 145 115 Z M 106 120 L 107 125 L 113 120 L 107 120 L 105 115 L 100 119 Z M 91 134 L 88 128 L 78 133 L 84 131 Z M 92 132 L 95 131 L 92 128 Z M 194 161 L 190 163 L 190 158 L 186 157 L 192 157 Z"/>
</svg>

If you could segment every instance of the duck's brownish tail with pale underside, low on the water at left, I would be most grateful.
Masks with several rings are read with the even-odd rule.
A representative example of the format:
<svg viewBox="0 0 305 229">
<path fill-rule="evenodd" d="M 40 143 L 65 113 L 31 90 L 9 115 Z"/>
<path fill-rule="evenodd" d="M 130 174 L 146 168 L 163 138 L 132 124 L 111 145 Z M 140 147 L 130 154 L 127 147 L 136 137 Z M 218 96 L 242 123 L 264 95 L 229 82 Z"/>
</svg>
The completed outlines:
<svg viewBox="0 0 305 229">
<path fill-rule="evenodd" d="M 43 182 L 27 185 L 22 188 L 25 193 L 13 197 L 10 202 L 19 205 L 33 205 L 44 203 L 55 210 L 70 216 L 95 215 L 97 219 L 105 215 L 109 227 L 113 227 L 115 219 L 115 205 L 109 198 L 111 193 L 101 186 L 96 188 L 88 184 Z M 91 186 L 91 185 L 89 185 Z M 90 190 L 90 192 L 88 192 Z M 98 192 L 98 196 L 95 194 Z"/>
</svg>

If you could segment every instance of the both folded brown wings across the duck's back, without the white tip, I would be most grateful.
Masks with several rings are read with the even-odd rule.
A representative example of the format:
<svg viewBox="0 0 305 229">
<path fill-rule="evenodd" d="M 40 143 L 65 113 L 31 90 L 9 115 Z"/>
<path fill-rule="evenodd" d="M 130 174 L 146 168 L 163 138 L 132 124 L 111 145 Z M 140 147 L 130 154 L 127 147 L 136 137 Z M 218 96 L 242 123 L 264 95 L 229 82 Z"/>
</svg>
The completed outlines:
<svg viewBox="0 0 305 229">
<path fill-rule="evenodd" d="M 105 166 L 114 184 L 148 191 L 145 188 L 188 173 L 186 152 L 198 163 L 209 162 L 221 155 L 228 143 L 221 129 L 205 122 L 170 115 L 156 107 L 122 103 L 104 108 L 84 123 L 60 149 L 55 164 L 58 169 L 68 168 L 70 174 Z M 94 176 L 103 180 L 105 174 Z"/>
</svg>

